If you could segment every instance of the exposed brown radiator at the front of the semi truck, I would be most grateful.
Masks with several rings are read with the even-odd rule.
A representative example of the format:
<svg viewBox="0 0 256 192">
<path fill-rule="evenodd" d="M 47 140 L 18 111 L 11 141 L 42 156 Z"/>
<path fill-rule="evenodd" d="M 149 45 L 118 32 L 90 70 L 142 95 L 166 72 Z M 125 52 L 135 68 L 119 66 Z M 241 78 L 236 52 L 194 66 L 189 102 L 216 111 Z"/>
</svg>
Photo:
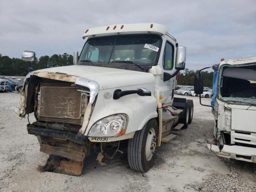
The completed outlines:
<svg viewBox="0 0 256 192">
<path fill-rule="evenodd" d="M 41 82 L 38 120 L 81 124 L 82 94 L 70 82 Z"/>
</svg>

